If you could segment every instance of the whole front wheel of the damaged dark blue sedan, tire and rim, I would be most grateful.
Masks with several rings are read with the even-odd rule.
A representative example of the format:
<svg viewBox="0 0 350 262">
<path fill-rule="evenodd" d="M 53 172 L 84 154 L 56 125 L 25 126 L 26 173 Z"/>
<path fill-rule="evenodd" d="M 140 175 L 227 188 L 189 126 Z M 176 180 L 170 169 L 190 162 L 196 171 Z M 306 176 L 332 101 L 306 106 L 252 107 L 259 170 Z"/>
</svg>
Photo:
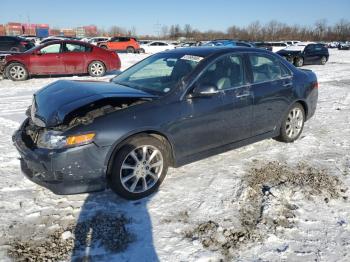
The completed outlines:
<svg viewBox="0 0 350 262">
<path fill-rule="evenodd" d="M 168 155 L 167 146 L 155 137 L 145 135 L 129 139 L 113 159 L 109 175 L 111 189 L 129 200 L 149 196 L 166 176 Z"/>
</svg>

